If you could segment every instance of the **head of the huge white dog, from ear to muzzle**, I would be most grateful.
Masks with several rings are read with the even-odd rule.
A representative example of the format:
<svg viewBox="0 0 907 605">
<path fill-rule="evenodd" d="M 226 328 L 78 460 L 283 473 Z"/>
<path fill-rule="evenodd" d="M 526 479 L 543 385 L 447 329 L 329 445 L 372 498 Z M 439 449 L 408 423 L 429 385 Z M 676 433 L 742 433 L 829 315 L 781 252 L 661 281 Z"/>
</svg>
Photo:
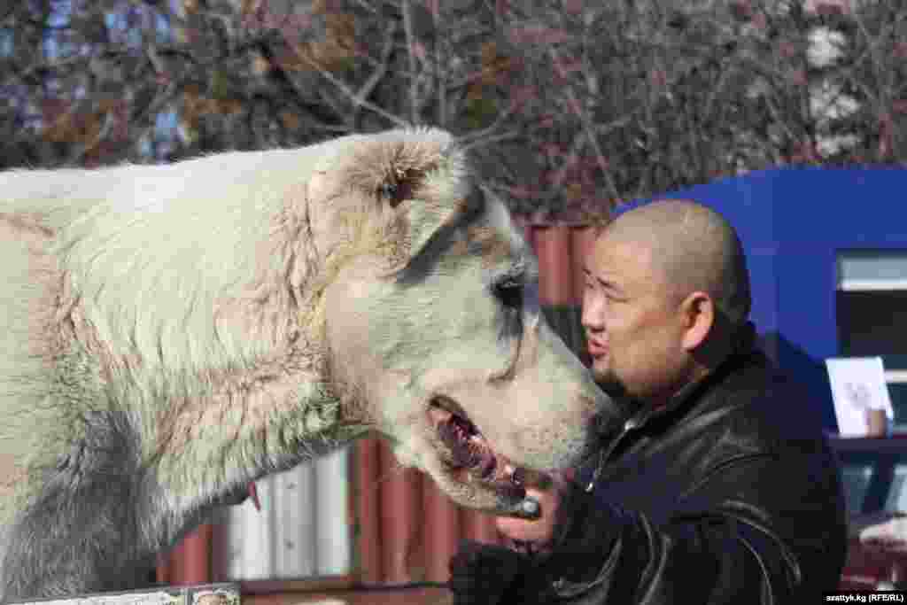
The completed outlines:
<svg viewBox="0 0 907 605">
<path fill-rule="evenodd" d="M 532 249 L 449 134 L 337 140 L 308 184 L 332 375 L 457 503 L 514 512 L 580 464 L 606 395 L 547 325 Z"/>
</svg>

